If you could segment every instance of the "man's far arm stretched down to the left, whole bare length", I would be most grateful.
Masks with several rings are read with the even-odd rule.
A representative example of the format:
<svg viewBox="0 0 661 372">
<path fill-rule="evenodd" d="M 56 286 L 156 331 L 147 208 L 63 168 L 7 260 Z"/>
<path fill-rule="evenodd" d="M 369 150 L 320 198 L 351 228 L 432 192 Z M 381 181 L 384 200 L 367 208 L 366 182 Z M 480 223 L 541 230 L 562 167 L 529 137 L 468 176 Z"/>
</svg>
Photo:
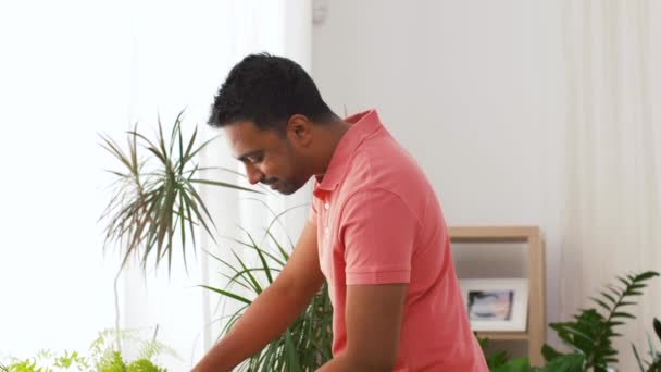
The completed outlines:
<svg viewBox="0 0 661 372">
<path fill-rule="evenodd" d="M 316 226 L 308 223 L 283 272 L 195 367 L 194 372 L 229 371 L 280 335 L 320 289 Z"/>
</svg>

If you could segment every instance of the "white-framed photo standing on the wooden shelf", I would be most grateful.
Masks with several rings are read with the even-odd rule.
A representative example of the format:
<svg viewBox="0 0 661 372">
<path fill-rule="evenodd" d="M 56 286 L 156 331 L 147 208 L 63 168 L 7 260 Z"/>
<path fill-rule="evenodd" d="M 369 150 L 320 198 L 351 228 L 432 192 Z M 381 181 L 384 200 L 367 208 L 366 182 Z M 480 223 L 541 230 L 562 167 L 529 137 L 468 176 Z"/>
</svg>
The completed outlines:
<svg viewBox="0 0 661 372">
<path fill-rule="evenodd" d="M 526 331 L 527 278 L 460 280 L 472 331 Z"/>
</svg>

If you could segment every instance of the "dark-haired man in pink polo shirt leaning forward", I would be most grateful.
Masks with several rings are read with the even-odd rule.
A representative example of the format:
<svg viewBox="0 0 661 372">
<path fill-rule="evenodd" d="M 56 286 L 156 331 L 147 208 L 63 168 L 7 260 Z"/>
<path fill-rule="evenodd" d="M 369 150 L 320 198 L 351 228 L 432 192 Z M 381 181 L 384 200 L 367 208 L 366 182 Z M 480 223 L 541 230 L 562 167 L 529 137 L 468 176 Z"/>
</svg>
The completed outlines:
<svg viewBox="0 0 661 372">
<path fill-rule="evenodd" d="M 289 195 L 315 177 L 279 276 L 195 371 L 228 371 L 282 334 L 324 280 L 333 360 L 320 371 L 487 371 L 471 333 L 437 198 L 376 111 L 339 119 L 295 62 L 238 63 L 215 97 L 251 184 Z"/>
</svg>

